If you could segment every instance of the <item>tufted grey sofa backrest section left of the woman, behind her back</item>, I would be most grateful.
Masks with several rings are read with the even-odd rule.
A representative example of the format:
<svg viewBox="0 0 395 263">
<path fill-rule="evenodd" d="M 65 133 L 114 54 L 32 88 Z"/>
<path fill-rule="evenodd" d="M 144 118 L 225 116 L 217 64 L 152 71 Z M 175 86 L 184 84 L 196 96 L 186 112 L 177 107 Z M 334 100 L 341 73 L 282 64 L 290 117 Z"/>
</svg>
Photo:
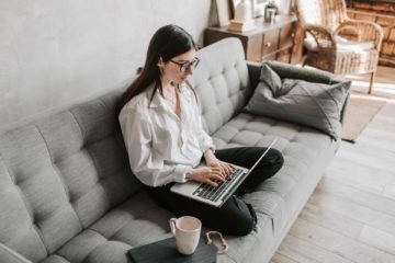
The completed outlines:
<svg viewBox="0 0 395 263">
<path fill-rule="evenodd" d="M 0 242 L 38 262 L 140 187 L 112 92 L 0 135 Z"/>
</svg>

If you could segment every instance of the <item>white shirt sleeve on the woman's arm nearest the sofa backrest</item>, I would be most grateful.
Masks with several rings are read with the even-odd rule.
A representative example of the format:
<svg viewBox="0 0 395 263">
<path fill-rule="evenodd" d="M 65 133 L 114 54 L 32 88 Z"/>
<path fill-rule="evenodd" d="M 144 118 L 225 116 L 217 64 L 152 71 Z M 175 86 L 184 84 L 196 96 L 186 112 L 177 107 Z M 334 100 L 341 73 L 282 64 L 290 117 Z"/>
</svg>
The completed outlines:
<svg viewBox="0 0 395 263">
<path fill-rule="evenodd" d="M 187 182 L 185 174 L 192 167 L 165 163 L 151 147 L 153 127 L 144 113 L 136 108 L 124 108 L 120 123 L 132 171 L 142 183 L 155 187 L 170 182 Z"/>
</svg>

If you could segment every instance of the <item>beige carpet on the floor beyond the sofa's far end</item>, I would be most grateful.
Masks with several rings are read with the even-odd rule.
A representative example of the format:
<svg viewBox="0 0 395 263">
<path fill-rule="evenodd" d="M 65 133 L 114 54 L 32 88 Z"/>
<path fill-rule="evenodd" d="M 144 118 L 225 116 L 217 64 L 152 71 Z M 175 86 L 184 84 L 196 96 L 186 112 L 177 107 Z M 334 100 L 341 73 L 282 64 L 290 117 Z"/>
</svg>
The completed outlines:
<svg viewBox="0 0 395 263">
<path fill-rule="evenodd" d="M 347 104 L 341 139 L 354 142 L 384 104 L 385 101 L 372 95 L 351 94 Z"/>
</svg>

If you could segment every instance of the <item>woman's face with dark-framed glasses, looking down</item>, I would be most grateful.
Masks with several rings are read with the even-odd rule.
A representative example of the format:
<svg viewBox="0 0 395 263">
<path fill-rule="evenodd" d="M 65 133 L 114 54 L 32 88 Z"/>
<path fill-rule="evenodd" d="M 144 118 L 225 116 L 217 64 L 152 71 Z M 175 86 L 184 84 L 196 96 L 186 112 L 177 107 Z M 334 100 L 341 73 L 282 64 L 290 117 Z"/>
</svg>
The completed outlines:
<svg viewBox="0 0 395 263">
<path fill-rule="evenodd" d="M 173 57 L 169 61 L 162 64 L 162 79 L 171 81 L 176 84 L 184 82 L 188 77 L 193 73 L 195 66 L 199 64 L 199 59 L 195 55 L 196 52 L 192 48 L 191 50 Z"/>
</svg>

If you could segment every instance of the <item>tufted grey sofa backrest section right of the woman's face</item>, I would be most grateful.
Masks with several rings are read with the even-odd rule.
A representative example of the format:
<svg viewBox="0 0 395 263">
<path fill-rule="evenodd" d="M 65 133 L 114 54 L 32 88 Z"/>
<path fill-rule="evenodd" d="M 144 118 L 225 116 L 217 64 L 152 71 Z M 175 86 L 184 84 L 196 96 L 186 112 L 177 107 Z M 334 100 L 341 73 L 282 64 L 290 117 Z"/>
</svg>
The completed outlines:
<svg viewBox="0 0 395 263">
<path fill-rule="evenodd" d="M 191 77 L 208 134 L 240 112 L 251 95 L 241 42 L 229 37 L 198 52 L 199 67 Z"/>
</svg>

